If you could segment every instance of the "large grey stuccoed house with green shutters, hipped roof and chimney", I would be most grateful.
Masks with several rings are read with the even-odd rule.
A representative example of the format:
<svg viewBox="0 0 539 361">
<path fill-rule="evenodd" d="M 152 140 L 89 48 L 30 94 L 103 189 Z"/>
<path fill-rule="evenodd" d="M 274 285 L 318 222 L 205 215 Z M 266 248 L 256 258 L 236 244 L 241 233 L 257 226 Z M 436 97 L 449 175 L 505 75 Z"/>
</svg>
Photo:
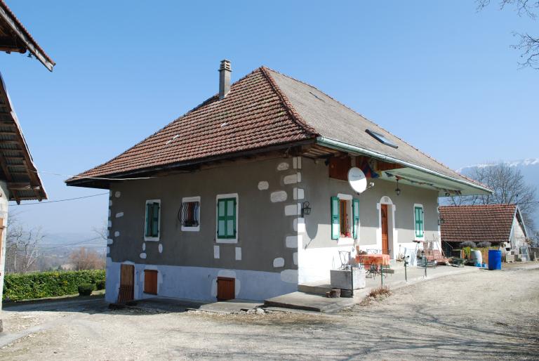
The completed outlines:
<svg viewBox="0 0 539 361">
<path fill-rule="evenodd" d="M 223 60 L 219 93 L 67 180 L 110 190 L 107 301 L 286 294 L 354 245 L 398 258 L 439 239 L 440 195 L 490 192 L 314 86 L 231 71 Z"/>
</svg>

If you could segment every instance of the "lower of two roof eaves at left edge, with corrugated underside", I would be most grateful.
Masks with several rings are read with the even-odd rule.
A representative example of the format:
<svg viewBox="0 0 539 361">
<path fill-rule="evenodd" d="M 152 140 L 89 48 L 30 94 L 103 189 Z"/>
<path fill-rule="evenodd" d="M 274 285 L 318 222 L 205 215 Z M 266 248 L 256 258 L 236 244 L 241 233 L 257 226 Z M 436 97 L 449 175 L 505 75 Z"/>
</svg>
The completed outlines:
<svg viewBox="0 0 539 361">
<path fill-rule="evenodd" d="M 11 201 L 47 198 L 1 74 L 0 179 L 7 181 Z"/>
</svg>

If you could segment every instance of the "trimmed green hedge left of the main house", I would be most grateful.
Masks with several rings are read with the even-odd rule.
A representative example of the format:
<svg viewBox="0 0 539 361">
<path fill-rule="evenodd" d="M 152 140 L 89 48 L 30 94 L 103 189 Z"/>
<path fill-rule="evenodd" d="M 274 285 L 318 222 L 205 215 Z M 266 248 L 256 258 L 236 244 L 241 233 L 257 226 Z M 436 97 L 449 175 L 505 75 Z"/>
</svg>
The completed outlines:
<svg viewBox="0 0 539 361">
<path fill-rule="evenodd" d="M 81 284 L 105 280 L 105 270 L 8 273 L 4 277 L 4 300 L 20 301 L 76 294 Z"/>
</svg>

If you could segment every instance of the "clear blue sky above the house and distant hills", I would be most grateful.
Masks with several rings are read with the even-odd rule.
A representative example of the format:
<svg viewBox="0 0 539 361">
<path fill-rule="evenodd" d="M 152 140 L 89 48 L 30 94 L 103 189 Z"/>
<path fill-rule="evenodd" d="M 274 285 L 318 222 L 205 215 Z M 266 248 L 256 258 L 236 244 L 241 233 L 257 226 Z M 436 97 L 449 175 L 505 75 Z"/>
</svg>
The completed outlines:
<svg viewBox="0 0 539 361">
<path fill-rule="evenodd" d="M 107 161 L 266 65 L 319 87 L 453 169 L 539 157 L 539 71 L 519 70 L 513 31 L 538 22 L 474 1 L 15 1 L 58 63 L 0 53 L 41 171 Z M 102 192 L 44 175 L 51 199 Z M 48 233 L 89 233 L 107 197 L 13 206 Z"/>
</svg>

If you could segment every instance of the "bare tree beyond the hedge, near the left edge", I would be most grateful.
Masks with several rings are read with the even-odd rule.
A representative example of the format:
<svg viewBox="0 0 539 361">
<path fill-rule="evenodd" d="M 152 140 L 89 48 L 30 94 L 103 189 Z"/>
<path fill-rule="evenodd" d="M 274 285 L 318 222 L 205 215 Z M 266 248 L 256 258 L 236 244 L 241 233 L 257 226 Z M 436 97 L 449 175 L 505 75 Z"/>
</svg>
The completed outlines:
<svg viewBox="0 0 539 361">
<path fill-rule="evenodd" d="M 44 238 L 40 227 L 27 230 L 16 214 L 8 218 L 6 235 L 6 272 L 27 273 L 35 270 L 39 245 Z"/>
</svg>

